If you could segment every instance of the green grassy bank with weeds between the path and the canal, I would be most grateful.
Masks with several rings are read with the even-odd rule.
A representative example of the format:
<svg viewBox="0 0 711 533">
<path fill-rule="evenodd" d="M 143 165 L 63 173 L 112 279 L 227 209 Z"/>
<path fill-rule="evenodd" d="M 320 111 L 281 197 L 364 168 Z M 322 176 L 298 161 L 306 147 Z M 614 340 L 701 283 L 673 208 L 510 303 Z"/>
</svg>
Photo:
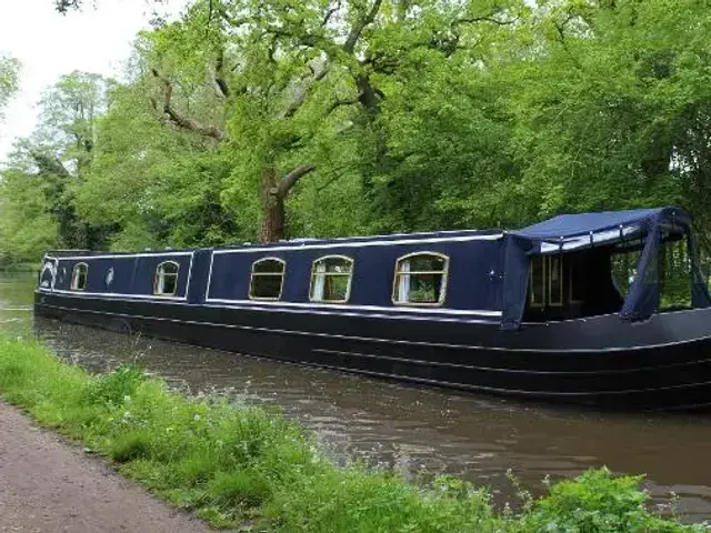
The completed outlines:
<svg viewBox="0 0 711 533">
<path fill-rule="evenodd" d="M 338 467 L 294 422 L 190 399 L 136 368 L 92 376 L 43 346 L 0 336 L 0 395 L 216 527 L 263 532 L 691 532 L 648 512 L 641 477 L 592 470 L 497 511 L 490 493 Z M 525 493 L 521 491 L 525 496 Z"/>
</svg>

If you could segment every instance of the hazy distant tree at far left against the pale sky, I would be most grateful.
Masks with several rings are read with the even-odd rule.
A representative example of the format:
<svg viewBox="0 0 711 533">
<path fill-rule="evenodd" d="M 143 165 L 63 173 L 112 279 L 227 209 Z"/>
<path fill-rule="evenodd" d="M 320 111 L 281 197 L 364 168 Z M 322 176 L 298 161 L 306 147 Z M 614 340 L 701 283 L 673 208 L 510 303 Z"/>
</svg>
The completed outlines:
<svg viewBox="0 0 711 533">
<path fill-rule="evenodd" d="M 92 163 L 96 121 L 109 84 L 98 74 L 74 72 L 42 97 L 39 124 L 16 143 L 2 172 L 2 238 L 12 252 L 37 253 L 40 243 L 97 248 L 106 240 L 107 228 L 80 220 L 74 195 Z"/>
</svg>

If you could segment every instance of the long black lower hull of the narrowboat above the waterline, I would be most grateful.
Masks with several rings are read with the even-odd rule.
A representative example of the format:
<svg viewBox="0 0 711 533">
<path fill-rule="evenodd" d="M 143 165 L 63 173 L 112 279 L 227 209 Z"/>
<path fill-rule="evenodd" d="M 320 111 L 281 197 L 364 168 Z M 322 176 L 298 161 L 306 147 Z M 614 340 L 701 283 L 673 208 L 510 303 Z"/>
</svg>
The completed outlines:
<svg viewBox="0 0 711 533">
<path fill-rule="evenodd" d="M 693 332 L 687 333 L 687 341 L 594 349 L 585 345 L 590 335 L 585 338 L 580 325 L 571 323 L 577 328 L 571 335 L 580 336 L 582 348 L 554 349 L 550 339 L 538 348 L 487 346 L 482 340 L 490 341 L 487 335 L 494 330 L 511 339 L 519 335 L 513 342 L 525 339 L 491 324 L 411 322 L 405 325 L 417 331 L 403 338 L 394 336 L 398 324 L 392 323 L 385 328 L 392 333 L 388 338 L 372 318 L 280 316 L 278 312 L 130 301 L 117 306 L 106 300 L 38 293 L 34 310 L 67 322 L 428 385 L 612 410 L 711 410 L 711 338 Z M 703 316 L 697 314 L 695 320 L 705 329 L 711 314 L 702 311 Z M 612 319 L 610 329 L 598 335 L 619 345 L 614 335 L 624 335 L 624 330 L 615 332 L 620 321 Z M 462 331 L 458 333 L 457 328 Z M 449 338 L 457 344 L 440 342 L 442 329 L 451 330 Z M 538 336 L 547 333 L 553 332 L 541 330 Z"/>
</svg>

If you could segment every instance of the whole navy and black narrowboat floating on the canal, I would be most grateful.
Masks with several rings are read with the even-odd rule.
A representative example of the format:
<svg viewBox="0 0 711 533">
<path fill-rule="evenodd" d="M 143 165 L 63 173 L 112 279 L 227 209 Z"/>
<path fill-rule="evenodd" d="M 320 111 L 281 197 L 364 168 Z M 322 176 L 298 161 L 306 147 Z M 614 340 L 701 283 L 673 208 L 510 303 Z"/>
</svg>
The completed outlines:
<svg viewBox="0 0 711 533">
<path fill-rule="evenodd" d="M 711 299 L 679 208 L 512 231 L 48 252 L 34 311 L 482 393 L 711 405 Z"/>
</svg>

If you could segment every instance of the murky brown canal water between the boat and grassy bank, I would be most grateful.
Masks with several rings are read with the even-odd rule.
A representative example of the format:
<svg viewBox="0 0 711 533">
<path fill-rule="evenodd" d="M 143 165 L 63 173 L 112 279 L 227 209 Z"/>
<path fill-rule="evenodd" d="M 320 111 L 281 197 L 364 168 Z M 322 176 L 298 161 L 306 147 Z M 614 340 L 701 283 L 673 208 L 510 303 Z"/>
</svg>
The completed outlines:
<svg viewBox="0 0 711 533">
<path fill-rule="evenodd" d="M 679 497 L 685 521 L 711 517 L 711 415 L 609 414 L 411 386 L 278 363 L 32 315 L 33 279 L 0 279 L 0 328 L 33 332 L 94 371 L 137 362 L 192 393 L 273 405 L 311 429 L 338 461 L 364 460 L 405 475 L 451 473 L 512 497 L 510 469 L 540 492 L 553 480 L 607 465 L 647 473 L 653 501 Z"/>
</svg>

